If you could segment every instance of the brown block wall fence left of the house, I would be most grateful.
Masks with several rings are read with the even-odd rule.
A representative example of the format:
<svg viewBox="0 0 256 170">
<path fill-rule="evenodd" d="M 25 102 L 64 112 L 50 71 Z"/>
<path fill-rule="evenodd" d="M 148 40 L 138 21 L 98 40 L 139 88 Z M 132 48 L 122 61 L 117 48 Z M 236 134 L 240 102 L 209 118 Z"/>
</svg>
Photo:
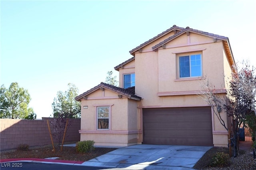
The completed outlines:
<svg viewBox="0 0 256 170">
<path fill-rule="evenodd" d="M 54 120 L 49 117 L 43 117 L 42 120 L 0 119 L 0 150 L 16 149 L 20 144 L 28 144 L 29 147 L 50 145 L 52 142 L 47 119 L 49 124 Z M 80 141 L 81 119 L 70 121 L 71 126 L 64 142 Z M 53 133 L 52 127 L 51 132 Z M 57 141 L 54 140 L 54 143 Z"/>
</svg>

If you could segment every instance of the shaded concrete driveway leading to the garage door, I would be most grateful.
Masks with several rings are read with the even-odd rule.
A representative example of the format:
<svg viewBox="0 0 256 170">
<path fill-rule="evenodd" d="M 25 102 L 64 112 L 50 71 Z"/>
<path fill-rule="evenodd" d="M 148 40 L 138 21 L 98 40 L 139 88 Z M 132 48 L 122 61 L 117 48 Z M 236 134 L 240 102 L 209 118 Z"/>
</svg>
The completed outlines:
<svg viewBox="0 0 256 170">
<path fill-rule="evenodd" d="M 212 147 L 133 145 L 116 149 L 81 165 L 126 169 L 192 170 Z"/>
</svg>

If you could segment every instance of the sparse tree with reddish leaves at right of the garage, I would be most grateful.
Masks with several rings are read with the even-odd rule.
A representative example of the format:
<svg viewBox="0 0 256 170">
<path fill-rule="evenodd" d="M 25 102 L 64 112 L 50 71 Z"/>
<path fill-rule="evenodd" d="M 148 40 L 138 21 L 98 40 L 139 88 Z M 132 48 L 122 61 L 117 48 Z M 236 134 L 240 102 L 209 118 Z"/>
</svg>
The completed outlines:
<svg viewBox="0 0 256 170">
<path fill-rule="evenodd" d="M 234 68 L 234 70 L 236 69 Z M 232 79 L 228 82 L 228 87 L 227 95 L 220 98 L 218 90 L 206 79 L 201 86 L 202 90 L 199 96 L 213 108 L 214 114 L 227 131 L 228 127 L 220 115 L 220 109 L 224 109 L 226 115 L 232 117 L 233 156 L 236 157 L 239 154 L 237 139 L 241 133 L 240 126 L 243 124 L 242 129 L 244 129 L 247 115 L 251 111 L 256 113 L 256 76 L 254 67 L 251 69 L 249 64 L 244 64 L 239 71 L 234 71 Z"/>
</svg>

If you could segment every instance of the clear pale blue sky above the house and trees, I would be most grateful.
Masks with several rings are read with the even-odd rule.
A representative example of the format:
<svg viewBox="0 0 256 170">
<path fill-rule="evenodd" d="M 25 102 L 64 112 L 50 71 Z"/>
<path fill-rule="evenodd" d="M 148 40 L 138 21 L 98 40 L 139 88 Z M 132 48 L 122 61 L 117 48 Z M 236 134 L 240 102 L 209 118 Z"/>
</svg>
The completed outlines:
<svg viewBox="0 0 256 170">
<path fill-rule="evenodd" d="M 234 58 L 256 66 L 255 0 L 1 0 L 0 17 L 0 84 L 28 89 L 37 118 L 69 82 L 79 94 L 97 86 L 174 24 L 229 37 Z"/>
</svg>

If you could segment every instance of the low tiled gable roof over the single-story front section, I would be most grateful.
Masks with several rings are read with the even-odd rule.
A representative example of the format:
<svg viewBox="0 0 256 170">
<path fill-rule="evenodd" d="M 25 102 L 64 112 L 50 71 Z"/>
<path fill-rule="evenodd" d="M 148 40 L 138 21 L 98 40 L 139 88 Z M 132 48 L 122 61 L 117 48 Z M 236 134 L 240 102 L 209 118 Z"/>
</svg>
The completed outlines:
<svg viewBox="0 0 256 170">
<path fill-rule="evenodd" d="M 117 94 L 120 94 L 122 96 L 125 96 L 125 97 L 133 99 L 133 100 L 141 100 L 142 99 L 140 96 L 135 95 L 135 87 L 130 87 L 130 88 L 124 89 L 124 88 L 116 87 L 116 86 L 101 82 L 98 86 L 95 86 L 94 88 L 91 88 L 90 90 L 77 96 L 75 98 L 75 100 L 81 101 L 82 98 L 86 97 L 88 94 L 91 94 L 100 88 L 111 90 L 112 92 L 116 92 Z"/>
</svg>

